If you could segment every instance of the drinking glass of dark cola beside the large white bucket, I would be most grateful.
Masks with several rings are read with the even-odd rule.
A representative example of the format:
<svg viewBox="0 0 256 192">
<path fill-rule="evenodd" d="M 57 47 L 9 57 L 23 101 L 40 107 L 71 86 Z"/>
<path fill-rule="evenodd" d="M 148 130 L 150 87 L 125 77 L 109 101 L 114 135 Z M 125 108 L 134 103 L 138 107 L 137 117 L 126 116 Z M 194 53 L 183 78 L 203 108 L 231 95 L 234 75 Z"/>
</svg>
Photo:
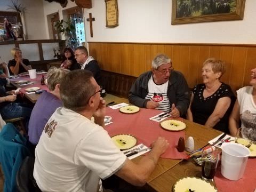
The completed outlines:
<svg viewBox="0 0 256 192">
<path fill-rule="evenodd" d="M 202 178 L 212 181 L 220 159 L 220 151 L 214 146 L 204 147 L 202 152 Z"/>
</svg>

